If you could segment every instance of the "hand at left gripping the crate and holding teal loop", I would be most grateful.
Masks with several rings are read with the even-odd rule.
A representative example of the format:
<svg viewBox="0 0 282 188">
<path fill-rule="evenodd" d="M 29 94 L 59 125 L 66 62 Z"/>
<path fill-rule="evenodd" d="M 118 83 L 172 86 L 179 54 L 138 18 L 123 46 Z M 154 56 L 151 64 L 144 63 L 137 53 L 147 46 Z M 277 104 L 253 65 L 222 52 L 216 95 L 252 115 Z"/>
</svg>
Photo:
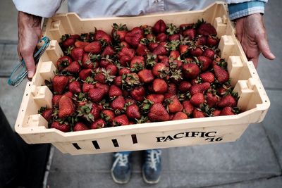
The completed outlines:
<svg viewBox="0 0 282 188">
<path fill-rule="evenodd" d="M 18 12 L 18 56 L 25 60 L 29 78 L 35 75 L 33 53 L 42 35 L 41 20 L 39 16 Z"/>
</svg>

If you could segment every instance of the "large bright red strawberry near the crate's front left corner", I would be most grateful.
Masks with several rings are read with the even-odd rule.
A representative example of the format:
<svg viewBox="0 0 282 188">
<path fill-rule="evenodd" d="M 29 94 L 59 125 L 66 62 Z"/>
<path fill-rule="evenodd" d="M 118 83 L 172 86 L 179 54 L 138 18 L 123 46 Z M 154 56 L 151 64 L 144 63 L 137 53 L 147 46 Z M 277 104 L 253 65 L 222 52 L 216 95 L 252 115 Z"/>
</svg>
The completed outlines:
<svg viewBox="0 0 282 188">
<path fill-rule="evenodd" d="M 75 113 L 73 100 L 68 96 L 62 96 L 59 100 L 59 118 L 67 118 Z"/>
</svg>

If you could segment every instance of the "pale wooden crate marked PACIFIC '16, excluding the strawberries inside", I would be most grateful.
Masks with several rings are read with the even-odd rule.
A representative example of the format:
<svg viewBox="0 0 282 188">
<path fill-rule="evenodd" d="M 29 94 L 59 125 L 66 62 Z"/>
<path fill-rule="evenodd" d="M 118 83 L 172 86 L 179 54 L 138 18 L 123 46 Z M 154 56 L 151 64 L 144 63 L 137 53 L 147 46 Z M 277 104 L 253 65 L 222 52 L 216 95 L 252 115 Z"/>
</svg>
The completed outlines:
<svg viewBox="0 0 282 188">
<path fill-rule="evenodd" d="M 217 37 L 221 38 L 221 57 L 228 62 L 231 83 L 240 96 L 238 107 L 243 113 L 66 133 L 49 129 L 47 121 L 37 114 L 41 106 L 52 106 L 52 93 L 44 85 L 44 80 L 54 77 L 56 61 L 63 55 L 58 43 L 61 35 L 92 32 L 94 27 L 110 33 L 113 23 L 125 23 L 133 28 L 137 25 L 154 25 L 162 19 L 178 26 L 197 22 L 201 18 L 212 23 Z M 27 82 L 15 125 L 16 132 L 30 144 L 51 143 L 63 153 L 77 155 L 233 142 L 250 123 L 261 122 L 270 106 L 254 65 L 247 61 L 235 38 L 235 30 L 223 3 L 212 4 L 202 11 L 128 18 L 80 19 L 75 13 L 59 14 L 44 22 L 44 35 L 50 37 L 51 44 L 39 60 L 35 77 Z"/>
</svg>

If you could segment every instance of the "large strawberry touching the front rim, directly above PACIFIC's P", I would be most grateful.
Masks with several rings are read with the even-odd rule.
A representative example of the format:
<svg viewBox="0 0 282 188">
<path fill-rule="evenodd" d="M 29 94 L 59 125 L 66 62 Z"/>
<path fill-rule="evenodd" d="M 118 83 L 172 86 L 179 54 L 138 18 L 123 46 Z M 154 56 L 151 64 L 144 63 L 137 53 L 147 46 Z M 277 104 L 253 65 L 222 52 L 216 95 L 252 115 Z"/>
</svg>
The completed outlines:
<svg viewBox="0 0 282 188">
<path fill-rule="evenodd" d="M 151 108 L 149 108 L 148 118 L 152 122 L 168 121 L 170 119 L 166 108 L 159 103 L 153 104 Z"/>
</svg>

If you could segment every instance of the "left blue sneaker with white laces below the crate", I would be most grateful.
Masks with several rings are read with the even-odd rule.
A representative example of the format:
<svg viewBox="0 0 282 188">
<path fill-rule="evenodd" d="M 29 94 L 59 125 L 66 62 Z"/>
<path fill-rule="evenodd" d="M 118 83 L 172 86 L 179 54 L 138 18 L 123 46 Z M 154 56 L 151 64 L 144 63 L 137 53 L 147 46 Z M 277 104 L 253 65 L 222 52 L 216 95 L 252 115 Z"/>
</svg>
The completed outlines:
<svg viewBox="0 0 282 188">
<path fill-rule="evenodd" d="M 130 152 L 114 153 L 111 177 L 118 184 L 126 184 L 131 176 Z"/>
</svg>

